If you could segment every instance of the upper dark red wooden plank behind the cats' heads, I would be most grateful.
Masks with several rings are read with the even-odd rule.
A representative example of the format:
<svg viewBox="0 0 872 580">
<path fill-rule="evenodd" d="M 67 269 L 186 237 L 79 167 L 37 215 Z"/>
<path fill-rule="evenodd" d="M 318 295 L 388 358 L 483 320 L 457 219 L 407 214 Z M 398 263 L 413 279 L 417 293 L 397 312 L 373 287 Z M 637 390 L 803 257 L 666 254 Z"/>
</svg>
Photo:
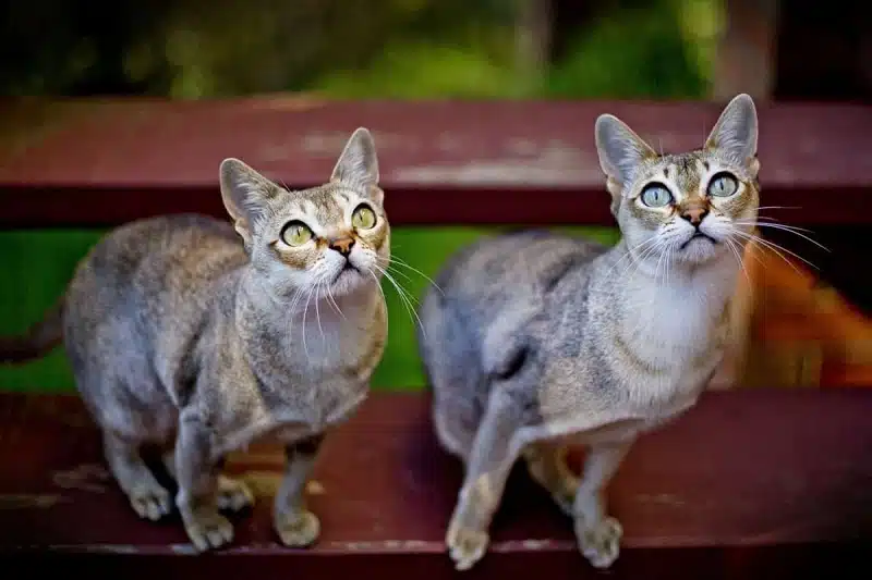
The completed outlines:
<svg viewBox="0 0 872 580">
<path fill-rule="evenodd" d="M 610 112 L 664 151 L 701 145 L 710 102 L 3 100 L 0 227 L 110 225 L 169 212 L 223 215 L 221 159 L 289 187 L 324 181 L 371 127 L 395 224 L 613 225 L 593 123 Z M 868 223 L 872 108 L 761 103 L 767 213 Z M 9 120 L 7 122 L 5 120 Z M 14 123 L 13 123 L 14 121 Z"/>
</svg>

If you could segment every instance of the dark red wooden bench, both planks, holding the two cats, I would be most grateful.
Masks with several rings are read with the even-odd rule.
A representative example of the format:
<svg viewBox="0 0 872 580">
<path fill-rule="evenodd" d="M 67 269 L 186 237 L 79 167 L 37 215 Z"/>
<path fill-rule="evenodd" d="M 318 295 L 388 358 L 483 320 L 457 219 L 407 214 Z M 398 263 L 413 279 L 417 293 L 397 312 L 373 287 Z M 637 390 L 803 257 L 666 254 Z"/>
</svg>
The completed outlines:
<svg viewBox="0 0 872 580">
<path fill-rule="evenodd" d="M 0 102 L 0 227 L 107 226 L 180 211 L 223 217 L 217 190 L 223 157 L 304 187 L 328 174 L 358 125 L 374 132 L 395 226 L 610 226 L 593 150 L 595 115 L 616 113 L 676 150 L 698 146 L 718 110 L 715 103 L 301 97 L 8 100 Z M 849 298 L 868 296 L 870 287 L 868 271 L 855 264 L 868 261 L 856 236 L 869 233 L 871 112 L 760 107 L 764 205 L 799 208 L 767 214 L 824 238 L 829 257 L 812 258 L 823 260 L 822 276 Z M 801 240 L 778 242 L 809 256 Z M 862 318 L 851 320 L 863 326 Z M 843 328 L 834 323 L 831 331 L 838 335 Z M 610 491 L 626 529 L 611 573 L 822 578 L 856 565 L 868 577 L 872 390 L 824 383 L 831 388 L 710 393 L 642 441 Z M 461 473 L 436 445 L 427 405 L 423 394 L 374 394 L 328 439 L 308 489 L 323 536 L 308 551 L 280 547 L 270 530 L 277 449 L 232 457 L 230 469 L 245 473 L 261 502 L 240 518 L 231 548 L 194 557 L 178 521 L 141 521 L 128 507 L 75 396 L 0 395 L 0 555 L 26 563 L 28 573 L 62 563 L 64 572 L 113 578 L 450 577 L 441 542 Z M 579 578 L 594 571 L 576 550 L 570 522 L 519 468 L 493 527 L 492 551 L 469 573 Z"/>
</svg>

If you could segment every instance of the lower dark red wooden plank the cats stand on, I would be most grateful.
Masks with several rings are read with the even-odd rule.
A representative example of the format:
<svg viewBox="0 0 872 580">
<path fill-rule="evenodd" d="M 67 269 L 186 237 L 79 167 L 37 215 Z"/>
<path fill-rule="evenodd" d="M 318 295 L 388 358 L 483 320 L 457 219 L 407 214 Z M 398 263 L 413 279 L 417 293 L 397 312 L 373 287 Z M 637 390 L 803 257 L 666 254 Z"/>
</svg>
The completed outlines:
<svg viewBox="0 0 872 580">
<path fill-rule="evenodd" d="M 611 577 L 823 578 L 853 564 L 870 570 L 860 559 L 872 548 L 870 416 L 867 390 L 705 395 L 644 437 L 619 470 L 610 504 L 626 542 Z M 232 457 L 229 469 L 246 473 L 259 503 L 238 520 L 232 547 L 186 557 L 177 519 L 141 521 L 126 505 L 76 397 L 5 394 L 0 555 L 26 562 L 28 573 L 63 559 L 68 570 L 113 578 L 455 577 L 443 536 L 461 470 L 437 447 L 428 417 L 426 396 L 374 395 L 328 437 L 310 485 L 323 535 L 308 551 L 280 547 L 270 529 L 278 451 L 254 446 Z M 522 469 L 510 479 L 492 541 L 474 577 L 593 576 L 569 521 Z"/>
</svg>

